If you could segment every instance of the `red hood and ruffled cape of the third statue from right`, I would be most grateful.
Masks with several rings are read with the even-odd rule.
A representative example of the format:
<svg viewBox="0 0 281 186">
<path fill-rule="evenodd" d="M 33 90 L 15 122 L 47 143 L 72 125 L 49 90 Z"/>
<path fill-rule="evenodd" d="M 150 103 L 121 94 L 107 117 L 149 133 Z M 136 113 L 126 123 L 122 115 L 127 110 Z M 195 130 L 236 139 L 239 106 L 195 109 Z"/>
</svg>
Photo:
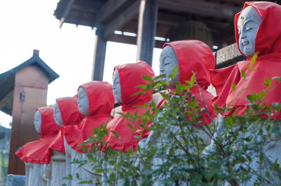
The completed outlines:
<svg viewBox="0 0 281 186">
<path fill-rule="evenodd" d="M 142 76 L 155 76 L 152 68 L 144 61 L 139 61 L 137 63 L 123 64 L 114 67 L 114 70 L 118 70 L 121 86 L 121 97 L 122 97 L 122 113 L 130 113 L 133 115 L 137 111 L 137 116 L 142 116 L 147 109 L 136 108 L 138 105 L 144 105 L 144 103 L 152 99 L 153 91 L 148 91 L 146 94 L 139 94 L 132 96 L 134 93 L 142 90 L 137 88 L 137 85 L 146 85 L 148 81 L 142 79 Z M 134 130 L 131 129 L 127 124 L 133 126 Z M 142 124 L 141 120 L 136 120 L 132 122 L 124 118 L 122 115 L 118 115 L 112 119 L 107 124 L 108 136 L 105 137 L 105 141 L 108 142 L 101 150 L 105 150 L 106 147 L 111 146 L 112 149 L 120 150 L 126 152 L 128 149 L 132 148 L 136 150 L 139 140 L 135 138 L 137 135 L 135 129 Z M 119 138 L 116 138 L 114 133 L 120 133 Z"/>
</svg>

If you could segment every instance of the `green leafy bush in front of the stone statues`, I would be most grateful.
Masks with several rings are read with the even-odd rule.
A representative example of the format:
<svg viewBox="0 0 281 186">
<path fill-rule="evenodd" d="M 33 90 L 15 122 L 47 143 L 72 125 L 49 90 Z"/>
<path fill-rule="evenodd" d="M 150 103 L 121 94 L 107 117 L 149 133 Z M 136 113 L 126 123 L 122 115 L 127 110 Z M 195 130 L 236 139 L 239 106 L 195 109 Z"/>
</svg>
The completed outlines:
<svg viewBox="0 0 281 186">
<path fill-rule="evenodd" d="M 254 70 L 252 66 L 249 68 Z M 242 75 L 247 79 L 243 72 Z M 170 77 L 174 76 L 175 73 Z M 140 87 L 144 91 L 156 87 L 159 91 L 166 85 L 160 78 L 161 76 L 157 76 L 153 78 L 152 83 Z M 234 116 L 234 112 L 225 119 L 218 115 L 213 123 L 205 125 L 200 118 L 208 109 L 200 108 L 198 100 L 189 90 L 193 86 L 201 89 L 194 73 L 191 80 L 186 81 L 186 85 L 177 83 L 174 90 L 176 96 L 170 97 L 173 92 L 168 90 L 160 92 L 167 100 L 161 108 L 151 103 L 151 110 L 148 104 L 143 106 L 148 111 L 141 117 L 137 117 L 136 113 L 123 115 L 128 120 L 142 120 L 143 124 L 140 127 L 151 130 L 149 137 L 139 143 L 137 153 L 132 150 L 122 152 L 108 148 L 103 157 L 95 157 L 100 145 L 103 145 L 101 141 L 104 135 L 107 134 L 106 125 L 101 125 L 99 129 L 93 130 L 94 137 L 90 136 L 90 139 L 82 144 L 84 149 L 87 149 L 85 144 L 99 145 L 91 145 L 87 152 L 87 160 L 74 162 L 81 165 L 92 162 L 93 169 L 105 176 L 103 182 L 108 185 L 114 184 L 116 179 L 123 180 L 124 185 L 152 185 L 159 182 L 159 185 L 237 186 L 243 185 L 247 180 L 255 182 L 255 185 L 276 185 L 280 183 L 279 180 L 275 182 L 278 174 L 281 179 L 278 158 L 270 157 L 266 152 L 269 148 L 276 148 L 274 145 L 281 140 L 281 121 L 271 119 L 274 113 L 280 111 L 281 106 L 279 103 L 272 106 L 262 103 L 271 87 L 271 81 L 280 83 L 281 78 L 267 78 L 265 85 L 268 89 L 247 96 L 250 104 L 245 115 Z M 235 87 L 234 83 L 232 89 L 235 90 Z M 217 113 L 230 110 L 229 106 L 214 108 Z M 268 118 L 262 118 L 264 115 Z M 189 119 L 186 119 L 187 116 Z M 148 121 L 152 121 L 153 125 L 147 128 Z M 132 132 L 136 130 L 132 129 Z M 134 155 L 138 157 L 136 161 L 130 158 Z M 272 164 L 268 164 L 268 158 Z M 105 162 L 110 166 L 105 166 Z M 259 168 L 256 169 L 254 164 Z M 101 180 L 98 184 L 101 184 Z"/>
</svg>

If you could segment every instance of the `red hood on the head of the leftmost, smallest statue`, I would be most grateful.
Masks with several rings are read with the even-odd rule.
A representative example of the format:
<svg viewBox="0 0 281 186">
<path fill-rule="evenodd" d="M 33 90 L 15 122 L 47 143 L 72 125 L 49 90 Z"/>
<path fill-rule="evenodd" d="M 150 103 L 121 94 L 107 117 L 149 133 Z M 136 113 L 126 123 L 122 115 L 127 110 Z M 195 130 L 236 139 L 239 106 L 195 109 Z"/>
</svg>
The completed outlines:
<svg viewBox="0 0 281 186">
<path fill-rule="evenodd" d="M 56 124 L 53 117 L 54 108 L 44 106 L 44 107 L 38 107 L 36 111 L 37 110 L 39 110 L 41 113 L 41 121 L 42 121 L 40 138 L 42 139 L 57 134 L 59 131 L 59 127 Z"/>
</svg>

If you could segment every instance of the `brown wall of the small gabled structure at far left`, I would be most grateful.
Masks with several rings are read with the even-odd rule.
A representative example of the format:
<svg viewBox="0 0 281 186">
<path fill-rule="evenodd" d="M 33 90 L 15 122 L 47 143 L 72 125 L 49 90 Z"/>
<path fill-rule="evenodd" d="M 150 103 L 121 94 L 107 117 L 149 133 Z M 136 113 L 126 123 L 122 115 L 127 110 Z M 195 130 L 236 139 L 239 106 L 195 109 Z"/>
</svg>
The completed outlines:
<svg viewBox="0 0 281 186">
<path fill-rule="evenodd" d="M 48 84 L 48 74 L 38 66 L 26 66 L 15 73 L 8 174 L 25 174 L 24 162 L 15 151 L 40 139 L 33 124 L 34 114 L 37 107 L 46 106 Z"/>
</svg>

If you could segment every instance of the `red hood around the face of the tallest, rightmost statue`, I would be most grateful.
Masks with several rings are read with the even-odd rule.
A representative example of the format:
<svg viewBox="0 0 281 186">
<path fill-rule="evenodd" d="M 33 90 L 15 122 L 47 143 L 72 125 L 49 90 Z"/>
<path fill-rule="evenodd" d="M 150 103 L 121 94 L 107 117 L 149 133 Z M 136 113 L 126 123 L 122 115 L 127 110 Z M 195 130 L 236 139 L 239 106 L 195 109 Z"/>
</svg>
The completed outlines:
<svg viewBox="0 0 281 186">
<path fill-rule="evenodd" d="M 262 22 L 256 35 L 255 52 L 259 52 L 259 56 L 271 54 L 274 52 L 281 52 L 281 29 L 277 29 L 281 27 L 281 6 L 271 2 L 245 2 L 243 10 L 251 5 L 258 9 L 262 17 Z M 234 20 L 235 37 L 238 49 L 239 34 L 237 21 L 241 12 L 235 15 Z M 242 54 L 241 51 L 240 53 Z"/>
</svg>

